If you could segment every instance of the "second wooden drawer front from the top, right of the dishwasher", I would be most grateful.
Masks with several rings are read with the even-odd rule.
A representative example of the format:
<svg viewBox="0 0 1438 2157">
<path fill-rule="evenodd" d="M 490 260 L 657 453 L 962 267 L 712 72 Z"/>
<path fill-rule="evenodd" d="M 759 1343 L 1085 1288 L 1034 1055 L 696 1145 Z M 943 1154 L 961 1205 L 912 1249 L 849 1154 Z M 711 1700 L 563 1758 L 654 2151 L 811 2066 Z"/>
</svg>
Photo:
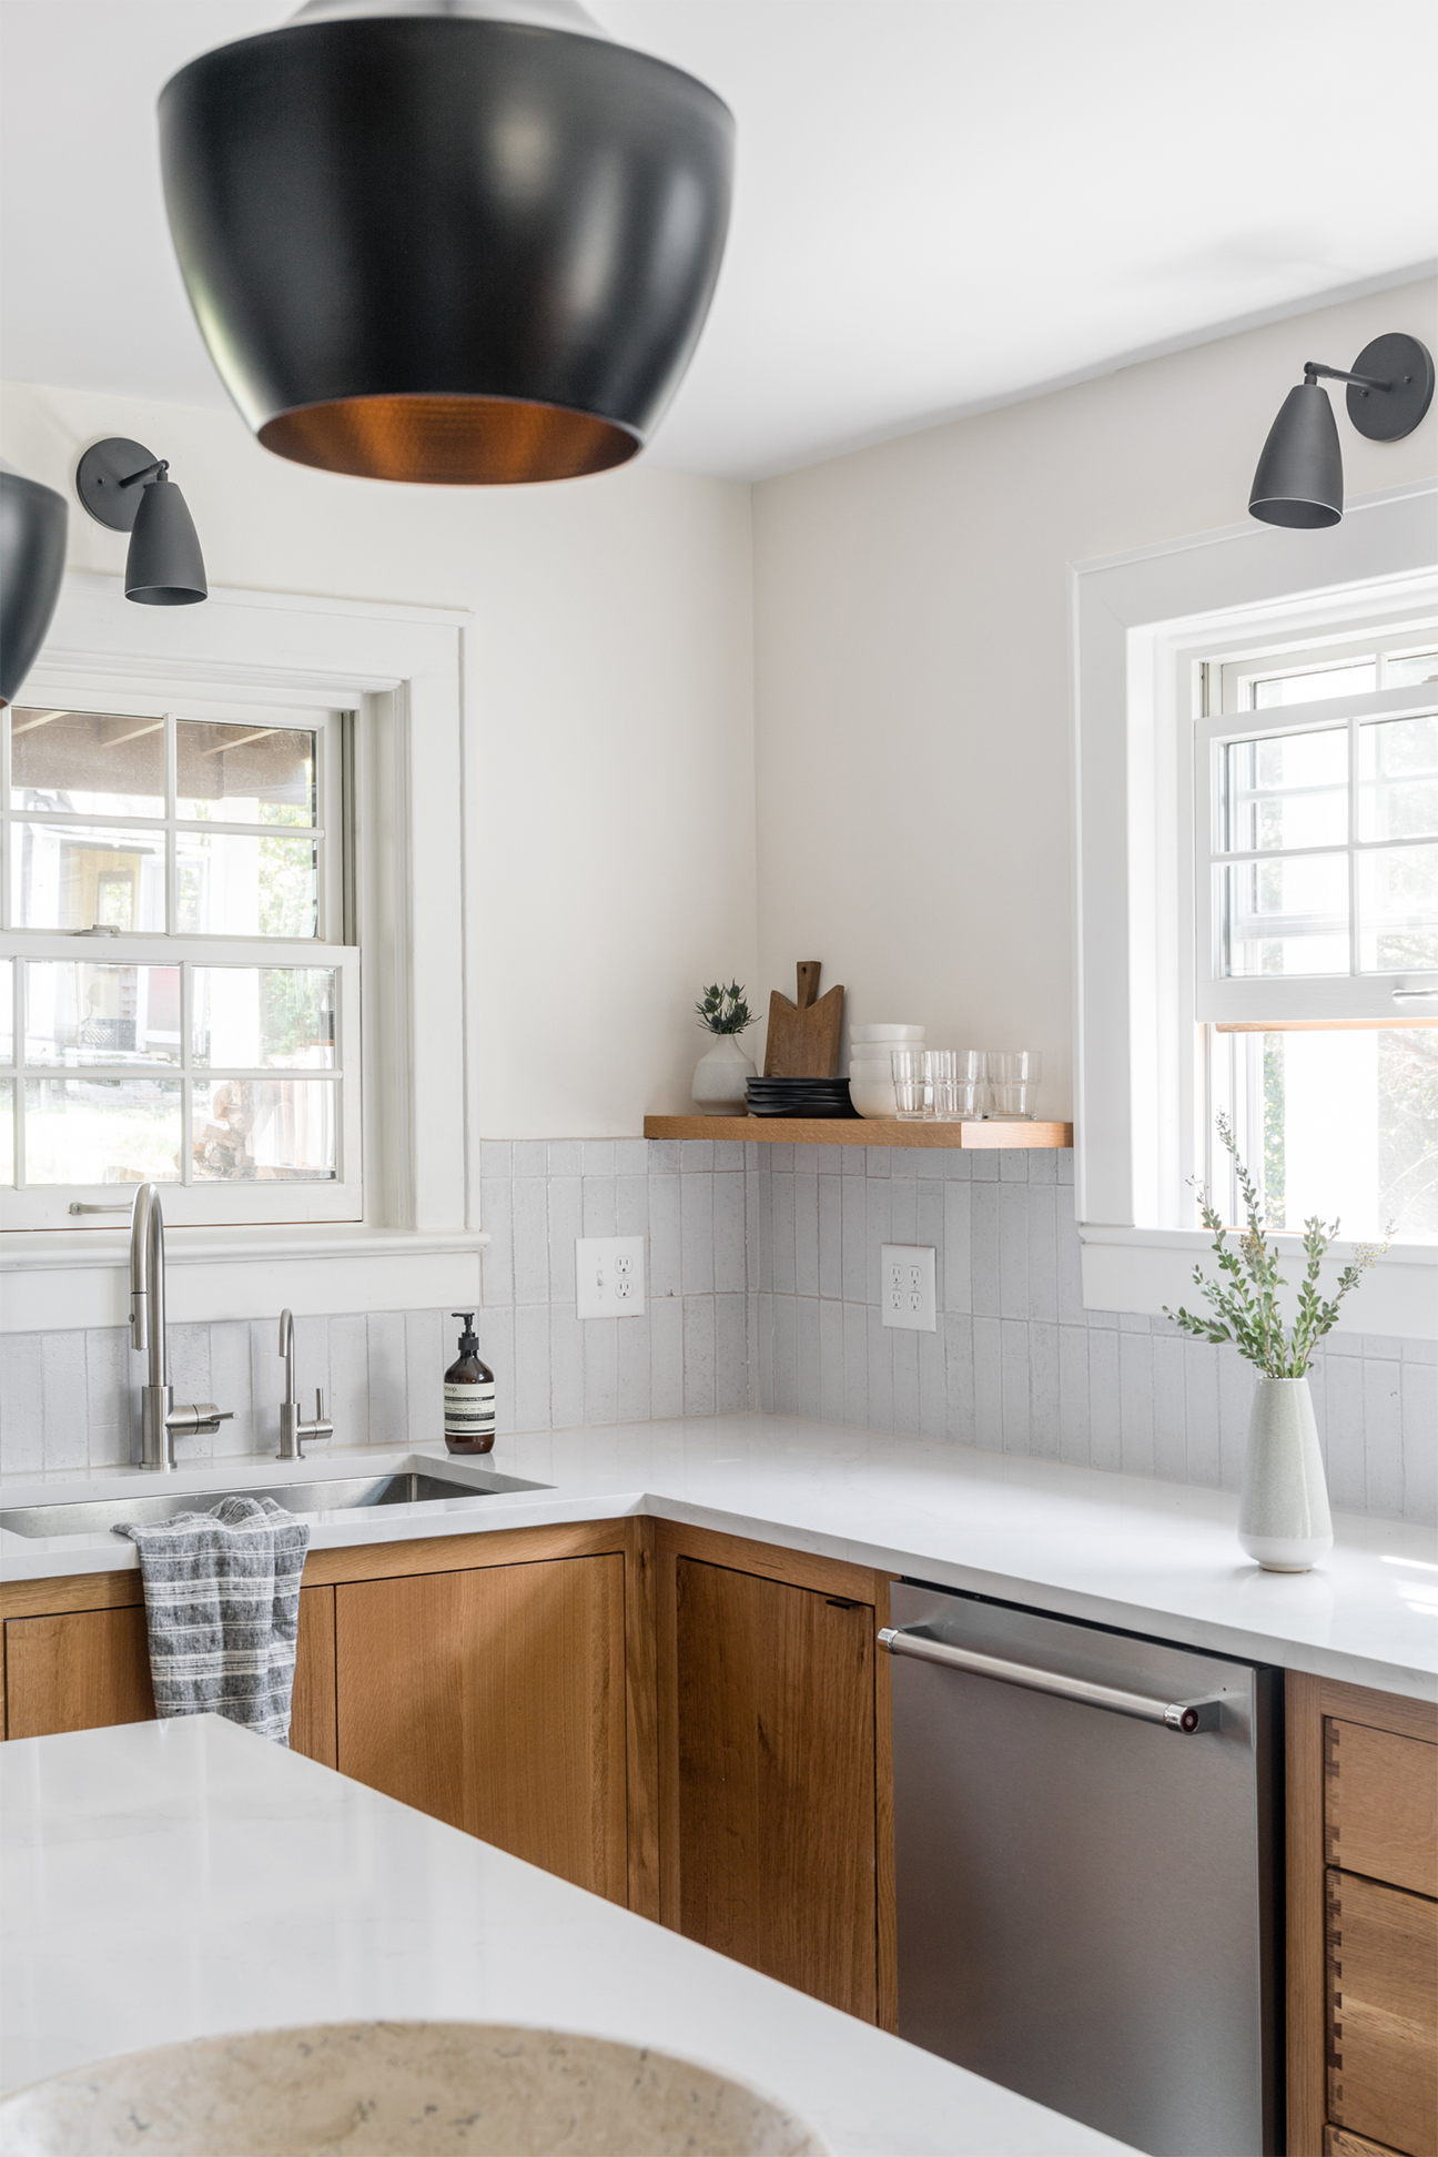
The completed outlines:
<svg viewBox="0 0 1438 2157">
<path fill-rule="evenodd" d="M 1328 2116 L 1438 2157 L 1438 1902 L 1328 1874 Z"/>
</svg>

